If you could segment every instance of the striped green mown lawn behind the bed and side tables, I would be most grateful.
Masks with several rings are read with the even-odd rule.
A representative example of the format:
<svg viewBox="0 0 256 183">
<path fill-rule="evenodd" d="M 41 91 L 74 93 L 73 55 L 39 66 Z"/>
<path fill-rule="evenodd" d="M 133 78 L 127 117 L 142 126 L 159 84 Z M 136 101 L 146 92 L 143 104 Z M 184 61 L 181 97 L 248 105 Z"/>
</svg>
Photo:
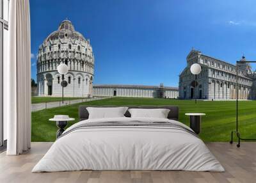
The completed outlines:
<svg viewBox="0 0 256 183">
<path fill-rule="evenodd" d="M 202 118 L 200 137 L 204 141 L 230 141 L 230 131 L 235 129 L 236 102 L 235 101 L 198 101 L 171 99 L 138 99 L 111 98 L 92 102 L 74 104 L 71 106 L 44 109 L 32 113 L 32 141 L 54 141 L 56 139 L 56 124 L 48 119 L 54 115 L 69 115 L 78 121 L 78 106 L 81 105 L 171 105 L 179 106 L 179 121 L 189 124 L 189 117 L 184 113 L 206 113 Z M 256 101 L 239 101 L 239 120 L 242 138 L 256 138 Z"/>
</svg>

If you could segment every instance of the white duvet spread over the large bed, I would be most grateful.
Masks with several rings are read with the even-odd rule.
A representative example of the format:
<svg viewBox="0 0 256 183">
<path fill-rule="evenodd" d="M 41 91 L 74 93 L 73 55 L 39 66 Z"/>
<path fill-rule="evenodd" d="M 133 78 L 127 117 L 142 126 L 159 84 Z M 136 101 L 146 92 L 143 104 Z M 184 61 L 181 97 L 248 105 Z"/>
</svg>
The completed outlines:
<svg viewBox="0 0 256 183">
<path fill-rule="evenodd" d="M 163 118 L 124 117 L 84 120 L 68 129 L 82 123 L 131 120 L 172 122 L 188 128 Z M 72 131 L 54 142 L 32 172 L 72 170 L 225 171 L 204 142 L 189 132 L 126 126 Z"/>
</svg>

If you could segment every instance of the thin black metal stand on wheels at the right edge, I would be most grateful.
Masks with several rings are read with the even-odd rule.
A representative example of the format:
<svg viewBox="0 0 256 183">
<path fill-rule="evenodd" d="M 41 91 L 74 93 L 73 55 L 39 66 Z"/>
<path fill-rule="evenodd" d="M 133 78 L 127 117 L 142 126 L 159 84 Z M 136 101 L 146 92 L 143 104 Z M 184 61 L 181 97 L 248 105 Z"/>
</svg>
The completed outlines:
<svg viewBox="0 0 256 183">
<path fill-rule="evenodd" d="M 256 61 L 236 61 L 236 63 L 256 63 Z M 246 138 L 241 138 L 241 134 L 239 132 L 239 128 L 238 128 L 238 94 L 239 94 L 239 89 L 238 89 L 238 67 L 236 66 L 236 131 L 231 131 L 231 140 L 230 143 L 233 143 L 233 134 L 235 133 L 237 138 L 238 138 L 238 143 L 237 143 L 237 147 L 240 147 L 240 141 L 241 140 L 256 140 L 256 139 L 246 139 Z"/>
</svg>

